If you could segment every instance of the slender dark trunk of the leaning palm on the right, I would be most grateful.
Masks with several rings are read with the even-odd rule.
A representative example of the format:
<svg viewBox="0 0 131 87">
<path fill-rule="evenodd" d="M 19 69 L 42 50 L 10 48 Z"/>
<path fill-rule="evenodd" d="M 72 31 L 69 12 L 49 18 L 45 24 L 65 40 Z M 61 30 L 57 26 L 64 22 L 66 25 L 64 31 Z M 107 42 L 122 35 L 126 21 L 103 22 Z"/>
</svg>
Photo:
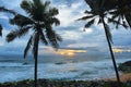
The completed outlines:
<svg viewBox="0 0 131 87">
<path fill-rule="evenodd" d="M 118 73 L 118 69 L 117 69 L 117 63 L 116 63 L 115 55 L 114 55 L 114 52 L 112 52 L 111 42 L 110 42 L 108 34 L 107 34 L 107 29 L 106 29 L 106 24 L 105 24 L 104 17 L 102 17 L 102 21 L 103 21 L 103 25 L 104 25 L 104 29 L 105 29 L 106 39 L 107 39 L 107 42 L 108 42 L 110 55 L 111 55 L 111 59 L 112 59 L 114 69 L 115 69 L 115 72 L 116 72 L 118 87 L 121 87 L 121 85 L 120 85 L 120 77 L 119 77 L 119 73 Z"/>
</svg>

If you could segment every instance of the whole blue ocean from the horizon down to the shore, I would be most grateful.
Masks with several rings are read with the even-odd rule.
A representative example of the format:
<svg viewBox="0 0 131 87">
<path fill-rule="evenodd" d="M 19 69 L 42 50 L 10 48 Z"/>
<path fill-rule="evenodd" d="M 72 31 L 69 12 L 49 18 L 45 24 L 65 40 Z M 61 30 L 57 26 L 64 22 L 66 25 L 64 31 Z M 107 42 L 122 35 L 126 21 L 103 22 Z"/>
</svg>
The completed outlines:
<svg viewBox="0 0 131 87">
<path fill-rule="evenodd" d="M 117 64 L 130 58 L 130 53 L 117 53 Z M 107 55 L 45 55 L 38 61 L 38 78 L 92 80 L 115 77 L 111 59 Z M 0 83 L 28 78 L 34 78 L 34 59 L 0 58 Z"/>
</svg>

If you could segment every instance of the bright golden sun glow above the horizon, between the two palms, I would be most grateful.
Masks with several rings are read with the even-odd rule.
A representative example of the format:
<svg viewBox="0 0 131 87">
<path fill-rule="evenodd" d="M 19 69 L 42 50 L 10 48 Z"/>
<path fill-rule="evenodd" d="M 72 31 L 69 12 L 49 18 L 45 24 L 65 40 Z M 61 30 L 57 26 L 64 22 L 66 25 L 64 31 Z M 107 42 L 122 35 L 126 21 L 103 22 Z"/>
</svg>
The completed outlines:
<svg viewBox="0 0 131 87">
<path fill-rule="evenodd" d="M 74 57 L 76 53 L 87 52 L 86 50 L 68 50 L 68 49 L 60 49 L 57 51 L 57 54 L 67 55 L 67 57 Z"/>
</svg>

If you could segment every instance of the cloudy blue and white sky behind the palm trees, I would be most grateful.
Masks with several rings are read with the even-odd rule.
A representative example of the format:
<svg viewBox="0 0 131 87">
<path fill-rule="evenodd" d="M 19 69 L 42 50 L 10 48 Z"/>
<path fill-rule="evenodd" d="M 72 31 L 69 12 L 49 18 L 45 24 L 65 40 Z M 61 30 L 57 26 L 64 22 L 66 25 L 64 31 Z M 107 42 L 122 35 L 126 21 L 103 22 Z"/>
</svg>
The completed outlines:
<svg viewBox="0 0 131 87">
<path fill-rule="evenodd" d="M 11 10 L 15 10 L 24 15 L 25 12 L 20 8 L 22 0 L 0 0 L 0 7 L 5 7 Z M 88 10 L 88 5 L 84 0 L 50 0 L 51 5 L 58 8 L 60 20 L 60 26 L 53 27 L 53 29 L 62 37 L 63 41 L 60 42 L 60 49 L 87 49 L 98 48 L 107 50 L 107 41 L 102 25 L 94 24 L 92 27 L 86 28 L 83 32 L 84 24 L 86 22 L 78 22 L 75 20 L 82 17 L 85 10 Z M 0 38 L 0 54 L 23 54 L 26 46 L 28 35 L 17 38 L 12 42 L 5 41 L 5 35 L 16 28 L 16 26 L 9 25 L 9 18 L 12 15 L 7 13 L 0 13 L 0 24 L 3 26 L 3 36 Z M 131 48 L 131 29 L 124 29 L 119 27 L 115 29 L 114 25 L 110 25 L 114 47 L 128 47 Z M 50 46 L 39 46 L 39 53 L 56 53 Z"/>
</svg>

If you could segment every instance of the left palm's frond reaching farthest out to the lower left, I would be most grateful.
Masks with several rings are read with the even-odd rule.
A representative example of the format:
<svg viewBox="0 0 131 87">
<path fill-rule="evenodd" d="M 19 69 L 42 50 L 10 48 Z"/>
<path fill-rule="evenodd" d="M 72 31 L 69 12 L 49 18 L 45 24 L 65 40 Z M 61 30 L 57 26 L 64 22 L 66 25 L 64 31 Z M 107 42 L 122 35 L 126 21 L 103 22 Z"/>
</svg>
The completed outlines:
<svg viewBox="0 0 131 87">
<path fill-rule="evenodd" d="M 29 30 L 29 28 L 31 28 L 31 26 L 27 26 L 27 27 L 21 27 L 20 29 L 10 32 L 7 35 L 7 41 L 10 42 L 17 37 L 20 38 L 20 37 L 24 36 Z"/>
</svg>

